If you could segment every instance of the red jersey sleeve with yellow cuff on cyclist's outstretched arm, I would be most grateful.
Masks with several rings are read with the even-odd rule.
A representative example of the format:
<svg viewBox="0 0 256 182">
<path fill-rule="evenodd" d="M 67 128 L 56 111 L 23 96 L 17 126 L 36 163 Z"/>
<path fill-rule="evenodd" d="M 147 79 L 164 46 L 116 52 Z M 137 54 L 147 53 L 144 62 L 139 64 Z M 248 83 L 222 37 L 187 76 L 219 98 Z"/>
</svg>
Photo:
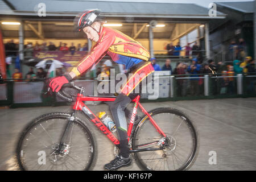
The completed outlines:
<svg viewBox="0 0 256 182">
<path fill-rule="evenodd" d="M 86 70 L 88 70 L 100 57 L 108 51 L 109 47 L 114 43 L 115 41 L 115 35 L 113 32 L 104 32 L 104 35 L 102 35 L 102 38 L 100 42 L 97 43 L 97 45 L 93 48 L 93 50 L 89 53 L 89 55 L 86 55 L 82 60 L 81 63 L 72 69 L 72 72 L 76 74 L 76 76 L 81 75 L 81 73 L 84 73 Z"/>
</svg>

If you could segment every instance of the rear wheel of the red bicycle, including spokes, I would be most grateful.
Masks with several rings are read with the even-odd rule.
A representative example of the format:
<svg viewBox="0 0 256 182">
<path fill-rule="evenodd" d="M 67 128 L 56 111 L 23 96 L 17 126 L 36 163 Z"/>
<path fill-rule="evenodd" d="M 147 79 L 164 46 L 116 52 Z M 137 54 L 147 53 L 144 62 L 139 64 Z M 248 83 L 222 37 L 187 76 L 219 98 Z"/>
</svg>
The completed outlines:
<svg viewBox="0 0 256 182">
<path fill-rule="evenodd" d="M 133 150 L 160 148 L 134 152 L 138 166 L 143 170 L 185 170 L 195 162 L 198 139 L 191 120 L 179 110 L 158 108 L 148 112 L 166 137 L 158 133 L 147 115 L 138 123 L 133 135 Z"/>
</svg>

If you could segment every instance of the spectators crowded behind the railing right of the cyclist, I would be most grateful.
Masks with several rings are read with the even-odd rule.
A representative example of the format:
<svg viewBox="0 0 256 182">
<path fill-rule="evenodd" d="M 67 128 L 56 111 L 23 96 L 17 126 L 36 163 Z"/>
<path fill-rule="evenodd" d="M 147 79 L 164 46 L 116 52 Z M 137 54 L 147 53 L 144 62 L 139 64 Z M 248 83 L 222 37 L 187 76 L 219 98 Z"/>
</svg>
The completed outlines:
<svg viewBox="0 0 256 182">
<path fill-rule="evenodd" d="M 191 63 L 177 62 L 176 67 L 172 69 L 171 60 L 166 59 L 165 64 L 161 68 L 155 58 L 151 59 L 155 71 L 171 71 L 171 75 L 175 75 L 177 96 L 203 96 L 204 95 L 204 75 L 212 77 L 213 82 L 211 90 L 213 94 L 234 94 L 236 90 L 235 77 L 237 74 L 250 75 L 256 73 L 255 60 L 250 56 L 245 57 L 241 63 L 240 60 L 234 60 L 233 64 L 224 64 L 219 61 L 214 64 L 212 59 L 205 63 L 195 57 Z M 218 77 L 216 77 L 218 76 Z M 189 79 L 181 77 L 190 77 Z M 215 78 L 216 77 L 216 78 Z M 255 77 L 248 77 L 245 80 L 247 85 L 247 93 L 255 93 Z"/>
</svg>

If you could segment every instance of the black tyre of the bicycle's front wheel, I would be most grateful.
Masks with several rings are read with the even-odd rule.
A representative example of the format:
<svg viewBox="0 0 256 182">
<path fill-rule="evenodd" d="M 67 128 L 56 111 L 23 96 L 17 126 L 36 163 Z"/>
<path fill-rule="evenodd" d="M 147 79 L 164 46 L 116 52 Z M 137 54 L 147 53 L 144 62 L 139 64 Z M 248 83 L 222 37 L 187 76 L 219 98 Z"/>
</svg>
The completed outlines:
<svg viewBox="0 0 256 182">
<path fill-rule="evenodd" d="M 18 161 L 20 169 L 28 170 L 28 168 L 26 167 L 26 164 L 24 163 L 24 159 L 23 159 L 23 154 L 24 154 L 23 144 L 25 143 L 25 140 L 26 140 L 26 137 L 28 136 L 28 134 L 31 135 L 31 133 L 30 133 L 31 130 L 36 129 L 36 127 L 39 126 L 40 123 L 50 121 L 51 119 L 59 119 L 59 120 L 60 119 L 63 119 L 63 120 L 66 119 L 66 120 L 68 120 L 70 117 L 71 117 L 71 114 L 68 114 L 68 113 L 48 113 L 48 114 L 41 115 L 40 117 L 35 118 L 30 123 L 28 123 L 28 125 L 24 128 L 24 130 L 20 134 L 18 143 L 16 145 L 16 159 Z M 85 164 L 86 166 L 84 168 L 81 168 L 82 170 L 90 170 L 96 164 L 96 159 L 97 159 L 97 144 L 96 144 L 94 134 L 92 133 L 92 130 L 90 130 L 89 126 L 86 125 L 85 122 L 82 122 L 81 119 L 76 117 L 75 120 L 72 121 L 72 122 L 74 124 L 73 126 L 76 125 L 77 130 L 81 130 L 81 133 L 85 134 L 88 141 L 90 142 L 90 144 L 89 144 L 90 147 L 89 147 L 89 150 L 88 150 L 88 152 L 90 152 L 90 154 L 89 154 L 90 157 L 89 157 L 87 163 Z M 81 147 L 81 146 L 79 146 L 79 147 Z M 71 150 L 70 150 L 70 153 L 71 153 Z M 69 154 L 67 154 L 67 156 L 68 155 Z M 71 163 L 69 163 L 69 164 L 71 164 Z M 79 165 L 77 164 L 76 166 L 79 166 Z M 32 170 L 35 170 L 35 169 L 32 169 Z"/>
</svg>

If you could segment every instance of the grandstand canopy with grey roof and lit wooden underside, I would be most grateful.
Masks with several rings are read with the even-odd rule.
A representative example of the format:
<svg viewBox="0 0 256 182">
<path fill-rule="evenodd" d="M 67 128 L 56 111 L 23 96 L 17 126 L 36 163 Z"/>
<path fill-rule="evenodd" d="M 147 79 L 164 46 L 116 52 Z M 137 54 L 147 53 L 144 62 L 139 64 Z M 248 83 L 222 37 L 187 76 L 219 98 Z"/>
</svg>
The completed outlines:
<svg viewBox="0 0 256 182">
<path fill-rule="evenodd" d="M 39 3 L 46 5 L 46 16 L 38 16 Z M 150 20 L 165 27 L 154 28 L 154 39 L 174 40 L 212 19 L 209 10 L 192 3 L 146 3 L 67 0 L 0 0 L 0 21 L 20 20 L 25 38 L 75 38 L 72 20 L 85 9 L 100 9 L 108 23 L 122 23 L 117 29 L 137 39 L 148 39 Z M 18 26 L 1 25 L 4 38 L 18 38 Z M 40 35 L 40 33 L 42 33 Z"/>
</svg>

